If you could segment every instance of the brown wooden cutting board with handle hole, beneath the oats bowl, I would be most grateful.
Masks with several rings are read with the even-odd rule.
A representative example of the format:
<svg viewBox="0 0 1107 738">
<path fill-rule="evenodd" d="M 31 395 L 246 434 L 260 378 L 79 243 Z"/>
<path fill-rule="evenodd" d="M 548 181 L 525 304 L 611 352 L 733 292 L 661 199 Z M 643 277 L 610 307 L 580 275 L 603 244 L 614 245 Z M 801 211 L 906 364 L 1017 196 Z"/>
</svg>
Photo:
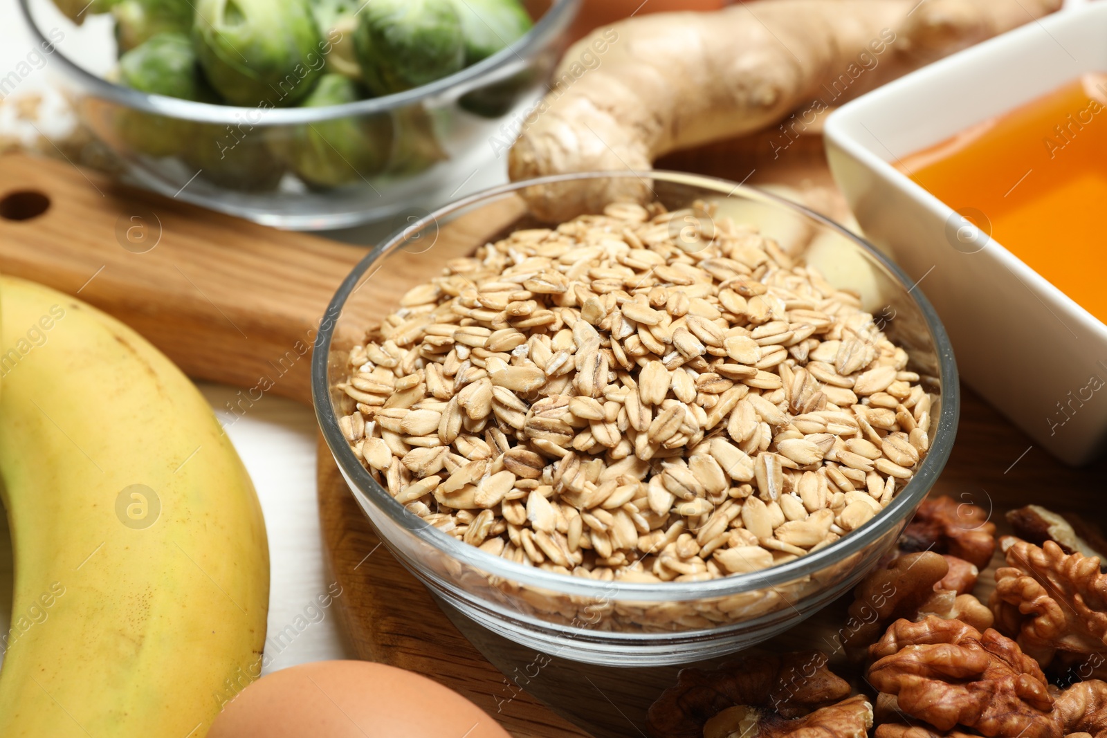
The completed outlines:
<svg viewBox="0 0 1107 738">
<path fill-rule="evenodd" d="M 825 197 L 824 209 L 841 215 L 817 141 L 779 163 L 766 150 L 756 139 L 732 142 L 671 157 L 666 165 L 735 180 L 752 175 L 751 181 L 786 181 Z M 32 216 L 43 204 L 40 196 L 49 207 Z M 307 357 L 292 361 L 288 352 L 313 335 L 335 288 L 364 253 L 128 189 L 65 163 L 0 157 L 0 271 L 80 295 L 134 326 L 198 378 L 251 387 L 261 376 L 276 376 L 271 392 L 310 403 Z M 964 398 L 939 492 L 997 512 L 1043 500 L 1059 510 L 1096 509 L 1107 462 L 1063 467 L 971 392 Z M 645 708 L 675 678 L 674 667 L 582 667 L 561 658 L 538 667 L 532 651 L 452 620 L 379 548 L 325 448 L 319 506 L 355 652 L 438 679 L 519 738 L 640 735 Z M 776 645 L 817 647 L 820 621 L 834 630 L 842 606 L 831 605 Z"/>
</svg>

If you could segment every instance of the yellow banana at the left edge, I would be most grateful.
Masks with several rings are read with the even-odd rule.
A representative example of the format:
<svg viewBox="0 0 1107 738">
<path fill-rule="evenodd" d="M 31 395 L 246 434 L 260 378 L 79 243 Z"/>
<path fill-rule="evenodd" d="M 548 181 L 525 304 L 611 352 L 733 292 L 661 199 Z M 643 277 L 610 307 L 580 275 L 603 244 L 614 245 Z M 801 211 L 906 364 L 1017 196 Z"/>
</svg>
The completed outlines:
<svg viewBox="0 0 1107 738">
<path fill-rule="evenodd" d="M 260 672 L 269 553 L 246 469 L 115 319 L 11 278 L 0 319 L 0 736 L 200 738 Z"/>
</svg>

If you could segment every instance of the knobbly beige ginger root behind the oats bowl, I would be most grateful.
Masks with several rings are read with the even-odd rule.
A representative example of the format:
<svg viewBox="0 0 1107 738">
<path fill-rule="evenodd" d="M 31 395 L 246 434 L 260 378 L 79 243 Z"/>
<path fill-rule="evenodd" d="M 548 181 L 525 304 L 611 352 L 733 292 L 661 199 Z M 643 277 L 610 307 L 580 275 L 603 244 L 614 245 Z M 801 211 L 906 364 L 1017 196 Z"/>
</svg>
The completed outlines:
<svg viewBox="0 0 1107 738">
<path fill-rule="evenodd" d="M 643 171 L 669 152 L 756 132 L 1053 12 L 1061 0 L 759 0 L 655 13 L 569 49 L 556 86 L 523 123 L 513 180 Z M 805 105 L 806 104 L 806 105 Z M 568 220 L 644 200 L 648 178 L 530 188 L 536 216 Z"/>
</svg>

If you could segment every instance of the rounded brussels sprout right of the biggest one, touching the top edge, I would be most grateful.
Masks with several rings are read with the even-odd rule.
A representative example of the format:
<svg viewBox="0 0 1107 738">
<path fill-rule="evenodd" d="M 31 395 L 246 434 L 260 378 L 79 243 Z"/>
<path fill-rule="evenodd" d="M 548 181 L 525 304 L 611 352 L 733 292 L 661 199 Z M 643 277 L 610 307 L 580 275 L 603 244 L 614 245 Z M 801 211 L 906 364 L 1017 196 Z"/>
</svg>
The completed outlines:
<svg viewBox="0 0 1107 738">
<path fill-rule="evenodd" d="M 465 65 L 453 0 L 372 0 L 358 14 L 354 49 L 365 84 L 377 95 L 434 82 Z"/>
</svg>

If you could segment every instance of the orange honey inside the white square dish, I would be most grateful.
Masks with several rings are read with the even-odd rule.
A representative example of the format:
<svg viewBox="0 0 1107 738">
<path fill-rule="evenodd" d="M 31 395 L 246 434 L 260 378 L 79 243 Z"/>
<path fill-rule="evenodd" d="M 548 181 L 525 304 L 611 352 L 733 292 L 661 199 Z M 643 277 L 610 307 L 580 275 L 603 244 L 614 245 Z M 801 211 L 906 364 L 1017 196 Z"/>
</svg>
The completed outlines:
<svg viewBox="0 0 1107 738">
<path fill-rule="evenodd" d="M 1086 74 L 898 166 L 1107 322 L 1107 75 Z"/>
</svg>

